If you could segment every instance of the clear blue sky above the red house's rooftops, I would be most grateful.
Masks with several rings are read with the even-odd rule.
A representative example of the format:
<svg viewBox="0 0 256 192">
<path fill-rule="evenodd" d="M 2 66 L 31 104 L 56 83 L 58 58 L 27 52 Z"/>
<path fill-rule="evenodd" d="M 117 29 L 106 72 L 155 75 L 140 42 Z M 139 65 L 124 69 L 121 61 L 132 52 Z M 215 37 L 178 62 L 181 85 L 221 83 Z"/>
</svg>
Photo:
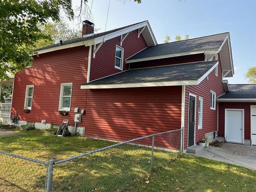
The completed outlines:
<svg viewBox="0 0 256 192">
<path fill-rule="evenodd" d="M 74 7 L 79 2 L 73 0 Z M 93 22 L 100 31 L 105 30 L 108 3 L 93 0 Z M 107 30 L 143 20 L 149 21 L 158 43 L 166 35 L 174 41 L 176 35 L 194 38 L 229 31 L 235 66 L 234 77 L 227 78 L 230 84 L 247 83 L 244 74 L 256 66 L 256 0 L 111 0 Z"/>
</svg>

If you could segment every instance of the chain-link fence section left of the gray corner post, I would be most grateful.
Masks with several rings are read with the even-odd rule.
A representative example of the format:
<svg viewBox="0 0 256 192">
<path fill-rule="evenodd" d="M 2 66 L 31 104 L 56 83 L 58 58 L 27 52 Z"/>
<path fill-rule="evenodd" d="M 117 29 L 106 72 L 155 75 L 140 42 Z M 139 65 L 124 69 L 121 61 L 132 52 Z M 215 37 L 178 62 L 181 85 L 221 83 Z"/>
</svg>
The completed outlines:
<svg viewBox="0 0 256 192">
<path fill-rule="evenodd" d="M 0 191 L 44 191 L 47 164 L 0 151 Z"/>
</svg>

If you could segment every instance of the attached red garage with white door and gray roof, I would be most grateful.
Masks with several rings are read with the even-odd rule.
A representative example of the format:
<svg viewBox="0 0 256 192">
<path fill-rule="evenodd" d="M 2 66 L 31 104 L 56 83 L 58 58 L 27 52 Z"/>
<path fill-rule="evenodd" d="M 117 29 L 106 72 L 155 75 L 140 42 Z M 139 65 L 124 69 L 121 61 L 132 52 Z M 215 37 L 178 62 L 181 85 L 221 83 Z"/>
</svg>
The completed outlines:
<svg viewBox="0 0 256 192">
<path fill-rule="evenodd" d="M 217 98 L 218 139 L 256 146 L 256 85 L 226 86 L 229 91 Z"/>
</svg>

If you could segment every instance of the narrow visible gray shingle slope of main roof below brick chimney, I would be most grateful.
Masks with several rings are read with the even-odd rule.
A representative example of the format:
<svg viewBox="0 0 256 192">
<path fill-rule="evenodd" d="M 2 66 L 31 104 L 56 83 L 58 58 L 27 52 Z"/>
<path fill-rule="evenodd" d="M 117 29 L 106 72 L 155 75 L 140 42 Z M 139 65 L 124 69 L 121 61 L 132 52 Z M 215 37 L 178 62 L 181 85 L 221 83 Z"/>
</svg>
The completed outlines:
<svg viewBox="0 0 256 192">
<path fill-rule="evenodd" d="M 70 43 L 77 43 L 77 42 L 82 42 L 82 41 L 94 39 L 94 38 L 97 38 L 97 37 L 101 37 L 101 36 L 104 36 L 104 35 L 108 35 L 108 34 L 114 33 L 114 32 L 116 32 L 118 30 L 122 30 L 122 29 L 125 29 L 127 27 L 131 27 L 131 26 L 137 25 L 137 24 L 142 23 L 142 22 L 145 22 L 145 21 L 141 21 L 141 22 L 138 22 L 138 23 L 134 23 L 132 25 L 128 25 L 128 26 L 117 28 L 117 29 L 109 30 L 109 31 L 106 31 L 106 32 L 103 32 L 103 33 L 94 34 L 94 35 L 89 36 L 89 37 L 82 37 L 82 34 L 81 34 L 81 37 L 79 37 L 79 38 L 63 41 L 62 44 L 60 44 L 60 43 L 52 44 L 52 45 L 49 45 L 49 46 L 46 46 L 46 47 L 42 47 L 42 48 L 36 49 L 35 51 L 46 50 L 46 49 L 50 49 L 52 47 L 57 47 L 57 46 L 61 46 L 61 45 L 67 45 L 67 44 L 70 44 Z"/>
</svg>

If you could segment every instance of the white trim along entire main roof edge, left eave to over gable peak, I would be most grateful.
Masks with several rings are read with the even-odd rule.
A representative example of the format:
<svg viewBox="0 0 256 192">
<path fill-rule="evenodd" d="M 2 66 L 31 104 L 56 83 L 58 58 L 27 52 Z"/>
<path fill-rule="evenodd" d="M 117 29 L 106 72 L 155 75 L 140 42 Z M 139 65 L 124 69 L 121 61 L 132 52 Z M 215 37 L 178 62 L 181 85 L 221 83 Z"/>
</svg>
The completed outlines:
<svg viewBox="0 0 256 192">
<path fill-rule="evenodd" d="M 149 25 L 149 22 L 145 21 L 145 22 L 138 23 L 137 25 L 133 25 L 133 26 L 126 27 L 124 29 L 115 31 L 115 32 L 107 34 L 105 36 L 100 36 L 100 37 L 97 37 L 94 39 L 89 39 L 89 40 L 85 40 L 85 41 L 81 41 L 81 42 L 70 43 L 67 45 L 61 45 L 61 46 L 57 46 L 57 47 L 51 47 L 51 48 L 45 49 L 45 50 L 40 50 L 40 51 L 37 51 L 34 55 L 57 51 L 57 50 L 62 50 L 62 49 L 67 49 L 70 47 L 76 47 L 76 46 L 81 46 L 81 45 L 90 46 L 90 45 L 98 44 L 101 42 L 105 42 L 111 38 L 121 36 L 123 34 L 129 33 L 130 31 L 133 31 L 133 30 L 139 29 L 141 27 L 145 27 L 145 26 L 148 27 L 149 33 L 151 35 L 151 38 L 153 39 L 154 44 L 157 45 L 156 37 Z"/>
</svg>

